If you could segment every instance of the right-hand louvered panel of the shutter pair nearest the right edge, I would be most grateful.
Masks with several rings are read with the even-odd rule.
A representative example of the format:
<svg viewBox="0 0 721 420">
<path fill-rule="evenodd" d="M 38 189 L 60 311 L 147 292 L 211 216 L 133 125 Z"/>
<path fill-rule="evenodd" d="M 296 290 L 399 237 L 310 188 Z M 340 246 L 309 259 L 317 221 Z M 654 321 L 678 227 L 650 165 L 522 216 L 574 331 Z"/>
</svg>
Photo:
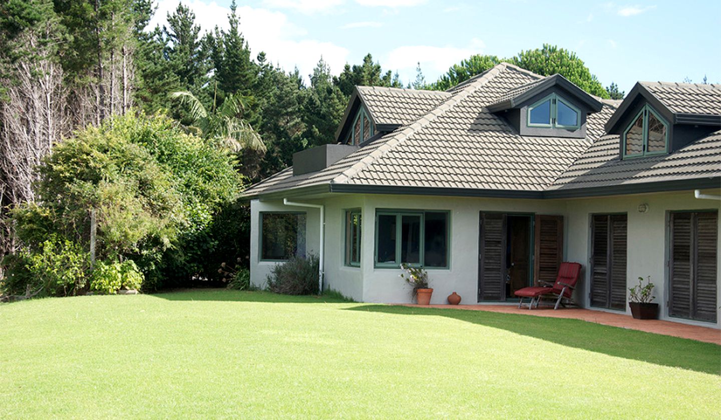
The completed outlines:
<svg viewBox="0 0 721 420">
<path fill-rule="evenodd" d="M 716 321 L 718 213 L 694 218 L 694 319 Z"/>
</svg>

